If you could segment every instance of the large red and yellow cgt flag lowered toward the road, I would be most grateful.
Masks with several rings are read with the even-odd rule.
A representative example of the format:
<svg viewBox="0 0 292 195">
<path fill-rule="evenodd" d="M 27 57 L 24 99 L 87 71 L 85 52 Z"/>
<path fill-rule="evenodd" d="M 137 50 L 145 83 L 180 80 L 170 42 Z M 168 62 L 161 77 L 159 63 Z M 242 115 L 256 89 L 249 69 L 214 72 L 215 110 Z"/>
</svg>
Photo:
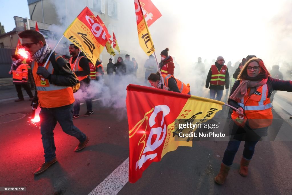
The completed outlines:
<svg viewBox="0 0 292 195">
<path fill-rule="evenodd" d="M 175 141 L 178 132 L 183 131 L 177 128 L 179 123 L 192 122 L 195 118 L 199 124 L 206 122 L 222 109 L 224 102 L 130 84 L 126 105 L 129 182 L 134 183 L 152 162 L 160 161 L 167 152 L 178 146 L 192 146 L 187 137 Z"/>
</svg>

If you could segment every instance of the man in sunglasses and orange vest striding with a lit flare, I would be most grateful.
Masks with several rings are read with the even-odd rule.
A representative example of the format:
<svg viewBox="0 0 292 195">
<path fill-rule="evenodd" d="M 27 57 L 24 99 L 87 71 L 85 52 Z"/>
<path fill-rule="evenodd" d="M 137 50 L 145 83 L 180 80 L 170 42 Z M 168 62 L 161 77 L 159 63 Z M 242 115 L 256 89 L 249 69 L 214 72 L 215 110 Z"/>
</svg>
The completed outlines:
<svg viewBox="0 0 292 195">
<path fill-rule="evenodd" d="M 51 52 L 50 46 L 46 44 L 41 33 L 35 30 L 25 30 L 19 33 L 19 37 L 22 39 L 22 46 L 34 60 L 32 74 L 36 85 L 36 94 L 32 106 L 33 108 L 41 107 L 41 139 L 45 162 L 34 172 L 34 175 L 39 175 L 57 162 L 53 133 L 57 121 L 65 133 L 79 140 L 74 151 L 84 149 L 89 138 L 73 124 L 74 96 L 72 87 L 78 83 L 78 80 L 76 80 L 67 61 L 55 52 Z M 49 62 L 44 67 L 48 58 Z"/>
</svg>

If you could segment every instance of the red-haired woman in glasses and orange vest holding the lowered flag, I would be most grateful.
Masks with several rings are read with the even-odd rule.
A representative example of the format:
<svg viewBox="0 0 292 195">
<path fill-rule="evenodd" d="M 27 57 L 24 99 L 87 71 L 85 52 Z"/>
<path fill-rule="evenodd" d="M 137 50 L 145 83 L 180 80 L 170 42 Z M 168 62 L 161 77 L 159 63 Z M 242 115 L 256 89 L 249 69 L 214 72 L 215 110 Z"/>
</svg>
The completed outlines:
<svg viewBox="0 0 292 195">
<path fill-rule="evenodd" d="M 270 96 L 273 90 L 292 92 L 292 81 L 272 78 L 260 58 L 248 60 L 238 75 L 230 92 L 228 104 L 237 108 L 230 121 L 232 141 L 224 152 L 221 169 L 215 182 L 223 184 L 240 142 L 245 141 L 240 162 L 239 174 L 248 175 L 248 165 L 253 157 L 255 146 L 261 137 L 267 136 L 272 124 L 272 105 Z"/>
</svg>

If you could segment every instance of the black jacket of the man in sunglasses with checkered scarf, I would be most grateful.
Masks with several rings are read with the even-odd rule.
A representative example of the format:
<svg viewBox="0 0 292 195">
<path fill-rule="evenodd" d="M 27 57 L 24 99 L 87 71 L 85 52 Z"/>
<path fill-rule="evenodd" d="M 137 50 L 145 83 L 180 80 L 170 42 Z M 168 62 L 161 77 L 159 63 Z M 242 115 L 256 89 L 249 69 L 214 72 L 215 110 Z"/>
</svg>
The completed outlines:
<svg viewBox="0 0 292 195">
<path fill-rule="evenodd" d="M 44 63 L 48 59 L 49 55 L 50 54 L 44 58 Z M 55 52 L 53 52 L 51 55 L 50 61 L 54 68 L 53 74 L 48 77 L 48 80 L 51 84 L 73 87 L 78 83 L 68 61 L 66 61 L 64 58 L 58 58 L 57 61 L 55 61 Z M 36 91 L 34 99 L 37 99 Z"/>
</svg>

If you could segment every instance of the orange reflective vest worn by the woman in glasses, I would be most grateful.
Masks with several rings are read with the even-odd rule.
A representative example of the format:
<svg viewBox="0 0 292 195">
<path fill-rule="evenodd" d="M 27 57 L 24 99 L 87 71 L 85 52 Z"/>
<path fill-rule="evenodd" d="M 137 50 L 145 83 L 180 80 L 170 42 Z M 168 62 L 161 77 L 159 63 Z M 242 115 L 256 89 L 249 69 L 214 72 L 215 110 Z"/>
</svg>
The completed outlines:
<svg viewBox="0 0 292 195">
<path fill-rule="evenodd" d="M 249 94 L 250 89 L 247 90 Z M 237 125 L 244 126 L 248 121 L 248 126 L 252 129 L 268 127 L 272 124 L 272 104 L 270 98 L 267 98 L 268 94 L 267 84 L 260 86 L 250 96 L 241 98 L 238 103 L 244 109 L 245 116 L 239 116 L 236 111 L 233 111 L 231 118 Z"/>
</svg>

